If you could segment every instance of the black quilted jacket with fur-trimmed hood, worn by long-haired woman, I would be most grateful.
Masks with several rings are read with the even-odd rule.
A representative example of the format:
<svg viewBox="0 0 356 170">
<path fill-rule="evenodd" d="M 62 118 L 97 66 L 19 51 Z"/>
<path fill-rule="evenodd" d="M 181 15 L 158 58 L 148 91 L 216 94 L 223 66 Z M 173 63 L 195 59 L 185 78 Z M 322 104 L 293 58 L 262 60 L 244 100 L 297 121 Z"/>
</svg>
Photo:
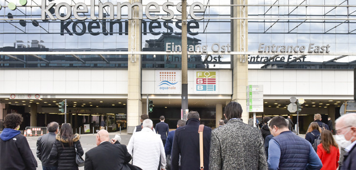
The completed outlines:
<svg viewBox="0 0 356 170">
<path fill-rule="evenodd" d="M 77 145 L 78 153 L 80 155 L 84 154 L 83 148 L 81 148 L 80 145 L 79 138 L 80 136 L 75 134 L 72 138 L 73 145 L 69 146 L 68 139 L 66 137 L 60 137 L 60 135 L 57 134 L 57 140 L 53 144 L 50 158 L 58 159 L 58 170 L 78 170 L 74 144 Z"/>
</svg>

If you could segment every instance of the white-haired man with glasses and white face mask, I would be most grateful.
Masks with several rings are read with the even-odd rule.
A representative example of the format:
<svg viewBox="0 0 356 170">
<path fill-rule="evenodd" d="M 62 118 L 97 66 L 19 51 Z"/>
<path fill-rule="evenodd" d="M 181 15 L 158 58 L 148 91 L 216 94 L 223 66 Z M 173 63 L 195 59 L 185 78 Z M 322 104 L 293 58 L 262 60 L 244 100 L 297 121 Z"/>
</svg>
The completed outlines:
<svg viewBox="0 0 356 170">
<path fill-rule="evenodd" d="M 339 170 L 352 170 L 356 167 L 356 113 L 341 116 L 335 121 L 336 142 L 346 153 Z"/>
</svg>

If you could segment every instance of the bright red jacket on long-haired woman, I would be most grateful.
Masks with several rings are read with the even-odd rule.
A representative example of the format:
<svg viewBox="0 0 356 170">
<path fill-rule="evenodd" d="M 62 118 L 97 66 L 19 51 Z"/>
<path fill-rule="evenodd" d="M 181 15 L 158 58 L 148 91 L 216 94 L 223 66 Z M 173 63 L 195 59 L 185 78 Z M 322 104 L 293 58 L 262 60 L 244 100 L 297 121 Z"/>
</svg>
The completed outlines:
<svg viewBox="0 0 356 170">
<path fill-rule="evenodd" d="M 320 170 L 336 170 L 339 166 L 339 164 L 337 163 L 339 161 L 340 156 L 339 149 L 335 146 L 330 147 L 330 153 L 326 153 L 322 143 L 317 145 L 316 153 L 319 156 L 321 162 L 323 163 L 323 168 L 321 168 Z"/>
</svg>

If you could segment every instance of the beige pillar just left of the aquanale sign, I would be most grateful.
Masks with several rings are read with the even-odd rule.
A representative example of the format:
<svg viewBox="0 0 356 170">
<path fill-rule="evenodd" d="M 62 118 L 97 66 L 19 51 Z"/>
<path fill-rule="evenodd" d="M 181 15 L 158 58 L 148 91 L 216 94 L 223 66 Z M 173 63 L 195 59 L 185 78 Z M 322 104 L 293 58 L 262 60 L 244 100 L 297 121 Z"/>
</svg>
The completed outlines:
<svg viewBox="0 0 356 170">
<path fill-rule="evenodd" d="M 130 3 L 141 0 L 129 0 Z M 138 8 L 132 9 L 132 17 L 138 17 Z M 141 20 L 129 20 L 128 51 L 141 51 Z M 128 55 L 127 133 L 133 133 L 142 114 L 141 55 Z"/>
</svg>

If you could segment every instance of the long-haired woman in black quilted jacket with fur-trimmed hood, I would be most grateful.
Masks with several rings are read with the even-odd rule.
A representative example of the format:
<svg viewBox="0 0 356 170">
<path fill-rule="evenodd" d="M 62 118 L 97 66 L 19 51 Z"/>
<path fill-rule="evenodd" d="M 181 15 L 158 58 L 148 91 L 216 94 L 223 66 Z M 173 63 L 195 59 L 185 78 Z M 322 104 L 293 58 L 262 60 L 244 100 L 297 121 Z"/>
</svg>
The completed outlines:
<svg viewBox="0 0 356 170">
<path fill-rule="evenodd" d="M 52 159 L 58 159 L 58 170 L 78 170 L 75 146 L 80 155 L 84 154 L 79 138 L 79 134 L 73 135 L 72 127 L 68 123 L 62 125 L 50 156 Z"/>
</svg>

